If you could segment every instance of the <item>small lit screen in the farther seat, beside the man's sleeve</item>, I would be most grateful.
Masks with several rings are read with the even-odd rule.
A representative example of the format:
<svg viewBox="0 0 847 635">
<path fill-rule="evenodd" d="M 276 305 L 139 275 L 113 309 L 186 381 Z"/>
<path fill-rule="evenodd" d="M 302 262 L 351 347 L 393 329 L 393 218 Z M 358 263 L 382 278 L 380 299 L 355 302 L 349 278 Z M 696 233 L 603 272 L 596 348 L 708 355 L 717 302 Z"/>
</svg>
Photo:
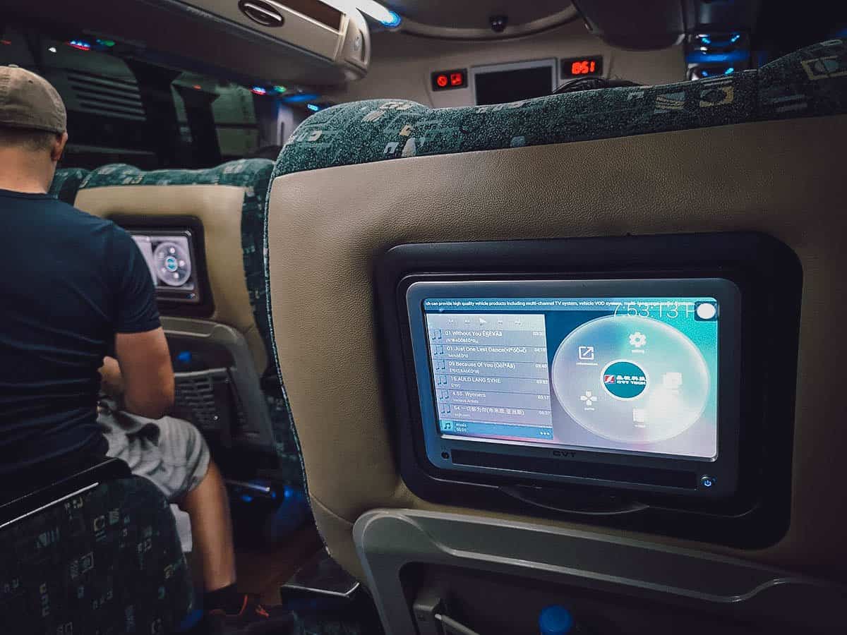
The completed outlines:
<svg viewBox="0 0 847 635">
<path fill-rule="evenodd" d="M 180 295 L 194 301 L 197 297 L 197 275 L 192 262 L 191 234 L 144 234 L 130 232 L 147 261 L 150 276 L 159 295 Z M 187 292 L 187 293 L 185 293 Z"/>
</svg>

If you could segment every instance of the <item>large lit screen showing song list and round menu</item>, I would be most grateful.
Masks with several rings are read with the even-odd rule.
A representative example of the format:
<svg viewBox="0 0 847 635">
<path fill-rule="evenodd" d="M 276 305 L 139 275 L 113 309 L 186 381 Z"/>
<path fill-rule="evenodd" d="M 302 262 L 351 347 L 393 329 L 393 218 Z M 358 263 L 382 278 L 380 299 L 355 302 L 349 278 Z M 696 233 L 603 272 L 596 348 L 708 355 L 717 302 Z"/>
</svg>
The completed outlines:
<svg viewBox="0 0 847 635">
<path fill-rule="evenodd" d="M 440 435 L 717 459 L 716 298 L 427 297 Z"/>
</svg>

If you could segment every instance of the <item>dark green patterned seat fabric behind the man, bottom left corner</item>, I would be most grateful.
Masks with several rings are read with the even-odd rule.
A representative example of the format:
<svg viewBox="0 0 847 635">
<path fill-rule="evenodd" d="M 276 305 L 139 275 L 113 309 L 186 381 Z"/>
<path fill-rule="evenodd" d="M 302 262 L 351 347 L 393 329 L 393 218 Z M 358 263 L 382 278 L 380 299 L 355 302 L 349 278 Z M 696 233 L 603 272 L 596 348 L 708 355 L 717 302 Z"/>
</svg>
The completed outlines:
<svg viewBox="0 0 847 635">
<path fill-rule="evenodd" d="M 102 483 L 0 530 L 16 635 L 168 633 L 194 601 L 174 515 L 146 478 Z"/>
</svg>

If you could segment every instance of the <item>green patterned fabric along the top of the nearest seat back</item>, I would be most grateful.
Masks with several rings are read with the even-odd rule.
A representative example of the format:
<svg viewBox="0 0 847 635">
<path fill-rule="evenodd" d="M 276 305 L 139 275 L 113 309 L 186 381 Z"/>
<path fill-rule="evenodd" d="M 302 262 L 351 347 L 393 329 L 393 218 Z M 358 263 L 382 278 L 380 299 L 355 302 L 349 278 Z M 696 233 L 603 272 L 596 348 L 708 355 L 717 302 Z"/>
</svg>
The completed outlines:
<svg viewBox="0 0 847 635">
<path fill-rule="evenodd" d="M 847 112 L 847 46 L 830 40 L 758 70 L 666 86 L 610 88 L 467 108 L 370 100 L 306 119 L 282 174 L 434 154 L 647 135 Z"/>
</svg>

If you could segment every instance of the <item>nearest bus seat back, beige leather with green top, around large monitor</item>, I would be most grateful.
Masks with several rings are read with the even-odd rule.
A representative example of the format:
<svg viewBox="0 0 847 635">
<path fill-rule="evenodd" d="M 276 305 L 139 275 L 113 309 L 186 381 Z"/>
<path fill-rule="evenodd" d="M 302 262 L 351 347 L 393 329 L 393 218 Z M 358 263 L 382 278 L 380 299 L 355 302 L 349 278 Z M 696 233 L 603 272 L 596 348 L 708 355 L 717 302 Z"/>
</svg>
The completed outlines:
<svg viewBox="0 0 847 635">
<path fill-rule="evenodd" d="M 415 242 L 750 230 L 783 240 L 804 269 L 793 522 L 756 551 L 622 533 L 847 578 L 847 543 L 828 521 L 847 513 L 847 497 L 831 489 L 847 453 L 847 431 L 834 423 L 843 405 L 831 398 L 833 338 L 847 319 L 847 182 L 827 177 L 843 163 L 845 113 L 839 39 L 668 86 L 469 108 L 371 100 L 308 118 L 274 167 L 268 289 L 278 371 L 335 559 L 365 579 L 352 528 L 378 508 L 586 528 L 473 501 L 437 505 L 407 489 L 373 308 L 382 253 Z"/>
</svg>

